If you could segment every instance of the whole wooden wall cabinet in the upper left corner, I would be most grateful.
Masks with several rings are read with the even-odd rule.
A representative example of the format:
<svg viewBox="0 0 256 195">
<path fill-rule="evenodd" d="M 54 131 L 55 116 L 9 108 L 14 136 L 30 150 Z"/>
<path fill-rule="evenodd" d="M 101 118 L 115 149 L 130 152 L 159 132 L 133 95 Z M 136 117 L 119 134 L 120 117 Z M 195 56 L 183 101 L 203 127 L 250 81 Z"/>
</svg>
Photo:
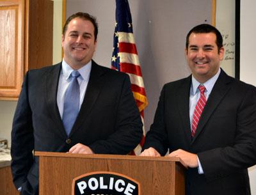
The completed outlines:
<svg viewBox="0 0 256 195">
<path fill-rule="evenodd" d="M 53 1 L 0 1 L 0 100 L 17 100 L 24 74 L 52 64 L 52 28 Z"/>
</svg>

